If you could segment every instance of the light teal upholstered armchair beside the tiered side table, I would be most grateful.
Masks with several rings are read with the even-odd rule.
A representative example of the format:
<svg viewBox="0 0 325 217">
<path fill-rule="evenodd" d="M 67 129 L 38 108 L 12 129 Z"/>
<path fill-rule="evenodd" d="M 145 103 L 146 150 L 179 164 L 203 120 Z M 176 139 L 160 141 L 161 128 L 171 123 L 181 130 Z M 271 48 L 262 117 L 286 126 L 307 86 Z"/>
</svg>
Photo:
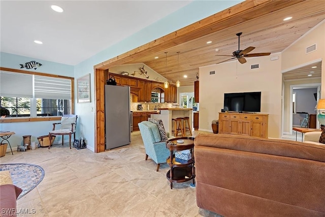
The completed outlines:
<svg viewBox="0 0 325 217">
<path fill-rule="evenodd" d="M 166 163 L 166 159 L 170 156 L 166 141 L 160 141 L 160 134 L 155 123 L 142 121 L 138 123 L 138 126 L 146 150 L 146 160 L 150 157 L 157 164 L 158 171 L 160 164 Z"/>
</svg>

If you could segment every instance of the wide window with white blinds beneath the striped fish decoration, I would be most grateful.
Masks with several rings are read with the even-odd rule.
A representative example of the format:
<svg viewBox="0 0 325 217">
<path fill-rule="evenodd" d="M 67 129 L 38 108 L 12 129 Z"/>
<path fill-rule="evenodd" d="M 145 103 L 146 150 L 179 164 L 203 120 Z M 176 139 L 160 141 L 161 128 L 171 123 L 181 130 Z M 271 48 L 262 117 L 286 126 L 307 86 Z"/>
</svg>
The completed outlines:
<svg viewBox="0 0 325 217">
<path fill-rule="evenodd" d="M 73 78 L 22 70 L 0 71 L 1 106 L 7 117 L 61 116 L 73 108 Z M 13 88 L 14 87 L 14 88 Z"/>
</svg>

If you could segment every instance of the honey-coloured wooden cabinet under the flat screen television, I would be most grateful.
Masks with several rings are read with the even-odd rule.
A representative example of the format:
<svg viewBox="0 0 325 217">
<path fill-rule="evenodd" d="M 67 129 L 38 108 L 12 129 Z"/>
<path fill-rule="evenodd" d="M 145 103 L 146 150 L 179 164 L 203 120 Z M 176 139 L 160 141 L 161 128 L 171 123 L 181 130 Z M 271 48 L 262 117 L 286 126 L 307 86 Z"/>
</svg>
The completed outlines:
<svg viewBox="0 0 325 217">
<path fill-rule="evenodd" d="M 219 112 L 219 133 L 268 138 L 269 114 Z"/>
</svg>

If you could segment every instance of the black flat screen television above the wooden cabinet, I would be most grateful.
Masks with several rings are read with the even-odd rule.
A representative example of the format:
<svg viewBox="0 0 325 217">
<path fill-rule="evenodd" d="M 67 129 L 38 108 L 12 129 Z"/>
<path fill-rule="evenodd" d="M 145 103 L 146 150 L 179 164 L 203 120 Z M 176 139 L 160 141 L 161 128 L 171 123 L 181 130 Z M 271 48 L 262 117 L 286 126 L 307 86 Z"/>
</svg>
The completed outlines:
<svg viewBox="0 0 325 217">
<path fill-rule="evenodd" d="M 224 94 L 223 110 L 261 112 L 261 92 L 233 92 Z"/>
</svg>

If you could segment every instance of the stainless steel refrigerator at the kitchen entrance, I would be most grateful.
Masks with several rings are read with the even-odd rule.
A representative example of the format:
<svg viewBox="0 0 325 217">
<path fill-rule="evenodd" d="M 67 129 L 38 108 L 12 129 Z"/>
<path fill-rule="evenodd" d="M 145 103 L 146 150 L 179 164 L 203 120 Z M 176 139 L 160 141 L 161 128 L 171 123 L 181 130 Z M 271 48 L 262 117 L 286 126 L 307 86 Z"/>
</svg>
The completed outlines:
<svg viewBox="0 0 325 217">
<path fill-rule="evenodd" d="M 106 149 L 131 142 L 130 87 L 105 85 Z"/>
</svg>

